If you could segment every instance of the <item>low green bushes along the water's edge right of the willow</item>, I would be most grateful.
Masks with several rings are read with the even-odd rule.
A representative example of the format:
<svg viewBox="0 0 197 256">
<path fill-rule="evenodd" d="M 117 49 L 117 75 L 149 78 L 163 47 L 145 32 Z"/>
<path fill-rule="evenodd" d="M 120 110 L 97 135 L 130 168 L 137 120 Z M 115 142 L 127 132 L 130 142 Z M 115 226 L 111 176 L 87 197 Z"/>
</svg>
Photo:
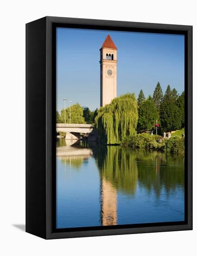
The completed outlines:
<svg viewBox="0 0 197 256">
<path fill-rule="evenodd" d="M 173 136 L 159 142 L 159 135 L 137 134 L 125 137 L 122 147 L 141 150 L 158 150 L 171 155 L 184 155 L 184 138 Z"/>
</svg>

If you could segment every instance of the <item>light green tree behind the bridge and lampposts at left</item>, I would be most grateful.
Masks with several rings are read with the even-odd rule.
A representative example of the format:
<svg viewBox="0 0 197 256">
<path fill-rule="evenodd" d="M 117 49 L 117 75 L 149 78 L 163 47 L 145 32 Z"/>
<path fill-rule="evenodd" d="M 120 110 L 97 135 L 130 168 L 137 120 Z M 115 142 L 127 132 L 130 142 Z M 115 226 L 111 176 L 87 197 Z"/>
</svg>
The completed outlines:
<svg viewBox="0 0 197 256">
<path fill-rule="evenodd" d="M 61 110 L 60 121 L 64 123 L 64 108 Z M 66 108 L 65 121 L 66 123 L 85 123 L 85 119 L 83 117 L 83 108 L 78 103 Z"/>
</svg>

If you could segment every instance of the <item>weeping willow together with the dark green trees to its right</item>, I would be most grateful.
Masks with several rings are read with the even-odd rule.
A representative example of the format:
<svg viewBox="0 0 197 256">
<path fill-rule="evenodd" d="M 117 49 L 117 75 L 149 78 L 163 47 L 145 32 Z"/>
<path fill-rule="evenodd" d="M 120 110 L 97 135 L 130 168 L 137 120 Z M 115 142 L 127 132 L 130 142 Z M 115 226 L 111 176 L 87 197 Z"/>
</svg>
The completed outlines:
<svg viewBox="0 0 197 256">
<path fill-rule="evenodd" d="M 138 99 L 134 94 L 121 95 L 100 108 L 95 117 L 99 140 L 106 144 L 120 144 L 132 135 L 138 140 L 137 133 L 154 130 L 156 123 L 158 135 L 184 128 L 184 92 L 179 95 L 168 85 L 163 95 L 158 82 L 153 97 L 149 95 L 146 99 L 142 90 Z M 158 148 L 156 142 L 153 144 Z"/>
</svg>

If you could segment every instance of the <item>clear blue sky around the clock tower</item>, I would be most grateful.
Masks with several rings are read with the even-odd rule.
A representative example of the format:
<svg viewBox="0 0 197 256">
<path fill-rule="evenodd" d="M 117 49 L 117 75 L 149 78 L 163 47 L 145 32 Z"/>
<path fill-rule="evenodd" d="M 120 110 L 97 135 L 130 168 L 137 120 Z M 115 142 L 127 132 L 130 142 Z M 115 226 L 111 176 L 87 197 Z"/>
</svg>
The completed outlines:
<svg viewBox="0 0 197 256">
<path fill-rule="evenodd" d="M 57 28 L 57 110 L 64 97 L 90 110 L 100 107 L 100 51 L 110 34 L 117 52 L 117 96 L 184 90 L 184 35 Z"/>
</svg>

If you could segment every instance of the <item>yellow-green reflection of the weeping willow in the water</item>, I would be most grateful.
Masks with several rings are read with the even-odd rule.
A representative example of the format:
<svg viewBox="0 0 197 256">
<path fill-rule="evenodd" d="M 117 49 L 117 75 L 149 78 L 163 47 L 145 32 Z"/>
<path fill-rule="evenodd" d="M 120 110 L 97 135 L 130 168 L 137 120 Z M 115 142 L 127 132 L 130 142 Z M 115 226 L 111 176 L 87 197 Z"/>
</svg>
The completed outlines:
<svg viewBox="0 0 197 256">
<path fill-rule="evenodd" d="M 96 164 L 101 179 L 105 178 L 122 193 L 134 194 L 138 179 L 136 157 L 137 154 L 131 154 L 130 149 L 119 146 L 97 149 Z"/>
</svg>

